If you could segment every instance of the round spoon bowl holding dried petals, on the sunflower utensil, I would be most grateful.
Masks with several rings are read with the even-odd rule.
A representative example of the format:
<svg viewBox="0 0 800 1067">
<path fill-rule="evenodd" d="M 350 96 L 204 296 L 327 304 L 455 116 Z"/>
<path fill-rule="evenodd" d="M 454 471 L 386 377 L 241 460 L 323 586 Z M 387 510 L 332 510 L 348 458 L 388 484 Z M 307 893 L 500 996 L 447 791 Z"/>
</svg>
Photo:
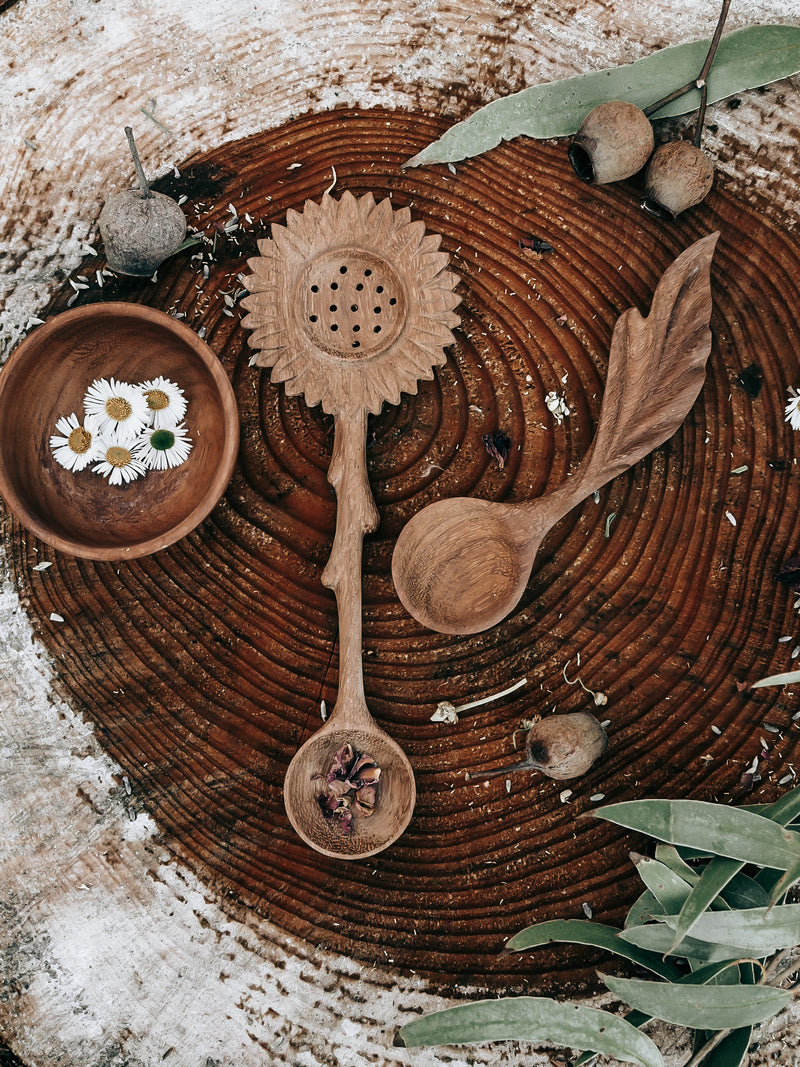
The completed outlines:
<svg viewBox="0 0 800 1067">
<path fill-rule="evenodd" d="M 353 819 L 351 833 L 324 818 L 318 798 L 325 773 L 345 745 L 371 757 L 381 768 L 374 812 Z M 342 726 L 330 719 L 297 751 L 284 780 L 284 805 L 291 825 L 307 845 L 336 859 L 365 859 L 386 848 L 405 830 L 416 802 L 414 771 L 405 752 L 374 722 Z"/>
</svg>

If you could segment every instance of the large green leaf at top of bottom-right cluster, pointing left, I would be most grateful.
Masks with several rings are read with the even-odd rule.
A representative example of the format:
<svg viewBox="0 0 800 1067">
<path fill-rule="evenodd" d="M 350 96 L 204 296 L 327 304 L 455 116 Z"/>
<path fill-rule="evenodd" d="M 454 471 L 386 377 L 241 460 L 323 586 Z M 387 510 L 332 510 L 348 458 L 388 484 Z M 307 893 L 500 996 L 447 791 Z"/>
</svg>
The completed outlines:
<svg viewBox="0 0 800 1067">
<path fill-rule="evenodd" d="M 789 871 L 800 863 L 800 834 L 753 812 L 705 800 L 625 800 L 592 815 L 671 845 Z"/>
</svg>

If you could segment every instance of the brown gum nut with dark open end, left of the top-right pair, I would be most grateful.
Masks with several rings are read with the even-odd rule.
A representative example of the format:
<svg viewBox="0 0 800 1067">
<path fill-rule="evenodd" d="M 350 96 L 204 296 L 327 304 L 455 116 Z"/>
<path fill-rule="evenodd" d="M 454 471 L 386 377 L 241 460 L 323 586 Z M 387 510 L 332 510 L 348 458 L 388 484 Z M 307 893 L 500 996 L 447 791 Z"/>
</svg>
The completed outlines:
<svg viewBox="0 0 800 1067">
<path fill-rule="evenodd" d="M 604 186 L 641 171 L 654 143 L 653 127 L 641 108 L 608 100 L 581 123 L 570 145 L 570 162 L 583 181 Z"/>
</svg>

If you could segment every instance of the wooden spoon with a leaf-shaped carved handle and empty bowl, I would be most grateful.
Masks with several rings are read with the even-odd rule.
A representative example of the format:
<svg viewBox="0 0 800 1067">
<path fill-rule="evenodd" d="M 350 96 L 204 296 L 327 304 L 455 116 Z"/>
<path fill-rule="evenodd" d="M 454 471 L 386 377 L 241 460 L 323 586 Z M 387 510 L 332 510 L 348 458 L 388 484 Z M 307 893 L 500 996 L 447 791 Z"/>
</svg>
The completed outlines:
<svg viewBox="0 0 800 1067">
<path fill-rule="evenodd" d="M 437 500 L 403 528 L 391 573 L 415 619 L 444 634 L 477 634 L 499 622 L 522 596 L 550 528 L 677 430 L 705 379 L 718 236 L 697 241 L 667 268 L 647 318 L 633 307 L 620 316 L 594 441 L 567 482 L 525 504 Z"/>
</svg>

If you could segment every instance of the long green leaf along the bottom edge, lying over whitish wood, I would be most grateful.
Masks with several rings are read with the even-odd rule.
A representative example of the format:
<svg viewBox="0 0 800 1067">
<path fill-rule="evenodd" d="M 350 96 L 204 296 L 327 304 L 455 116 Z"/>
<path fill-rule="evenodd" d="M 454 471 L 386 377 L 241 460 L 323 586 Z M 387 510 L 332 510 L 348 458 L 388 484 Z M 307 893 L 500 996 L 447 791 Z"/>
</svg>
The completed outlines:
<svg viewBox="0 0 800 1067">
<path fill-rule="evenodd" d="M 669 987 L 666 987 L 669 988 Z M 532 1041 L 589 1049 L 640 1067 L 663 1067 L 661 1053 L 636 1026 L 599 1008 L 544 997 L 506 997 L 434 1012 L 400 1030 L 406 1047 Z"/>
</svg>

